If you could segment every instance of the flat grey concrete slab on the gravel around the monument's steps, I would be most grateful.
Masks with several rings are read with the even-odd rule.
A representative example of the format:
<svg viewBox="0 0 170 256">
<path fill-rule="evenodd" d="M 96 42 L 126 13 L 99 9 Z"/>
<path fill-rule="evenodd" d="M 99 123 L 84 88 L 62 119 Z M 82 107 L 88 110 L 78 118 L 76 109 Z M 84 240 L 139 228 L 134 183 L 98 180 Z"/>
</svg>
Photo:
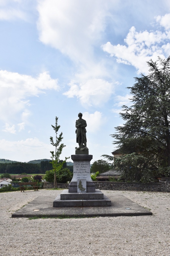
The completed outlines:
<svg viewBox="0 0 170 256">
<path fill-rule="evenodd" d="M 111 206 L 108 207 L 53 207 L 54 197 L 37 197 L 12 218 L 30 217 L 95 217 L 95 216 L 140 216 L 152 215 L 152 212 L 122 195 L 109 195 Z"/>
</svg>

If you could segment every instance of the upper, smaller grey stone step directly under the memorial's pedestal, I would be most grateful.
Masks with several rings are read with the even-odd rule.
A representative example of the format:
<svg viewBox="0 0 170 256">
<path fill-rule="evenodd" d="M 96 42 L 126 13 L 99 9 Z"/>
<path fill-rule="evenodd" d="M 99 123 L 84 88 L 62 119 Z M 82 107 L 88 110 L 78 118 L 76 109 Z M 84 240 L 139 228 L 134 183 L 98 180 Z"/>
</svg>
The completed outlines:
<svg viewBox="0 0 170 256">
<path fill-rule="evenodd" d="M 91 199 L 103 199 L 103 193 L 96 189 L 95 192 L 91 193 L 69 193 L 68 189 L 61 192 L 61 200 L 91 200 Z"/>
</svg>

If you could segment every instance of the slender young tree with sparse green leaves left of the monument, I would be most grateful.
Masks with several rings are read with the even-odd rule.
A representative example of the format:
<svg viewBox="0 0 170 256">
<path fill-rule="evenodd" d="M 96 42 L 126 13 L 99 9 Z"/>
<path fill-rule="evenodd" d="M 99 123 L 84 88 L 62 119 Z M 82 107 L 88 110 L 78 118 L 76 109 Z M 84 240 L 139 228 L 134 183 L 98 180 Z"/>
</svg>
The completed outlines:
<svg viewBox="0 0 170 256">
<path fill-rule="evenodd" d="M 61 143 L 63 137 L 63 133 L 61 132 L 59 134 L 59 136 L 57 137 L 57 133 L 58 133 L 58 130 L 60 128 L 60 125 L 58 125 L 58 117 L 56 117 L 56 125 L 51 125 L 52 128 L 54 129 L 55 133 L 56 133 L 56 140 L 54 142 L 54 139 L 53 137 L 50 137 L 50 141 L 51 141 L 51 144 L 55 147 L 55 153 L 54 151 L 50 151 L 50 153 L 52 154 L 51 156 L 51 163 L 52 163 L 52 166 L 53 166 L 53 169 L 54 169 L 54 188 L 57 186 L 57 180 L 56 180 L 56 171 L 59 171 L 62 169 L 63 165 L 66 163 L 66 160 L 69 159 L 70 157 L 65 157 L 65 161 L 60 161 L 59 160 L 59 157 L 62 153 L 62 150 L 63 148 L 65 147 L 65 145 L 63 143 Z M 61 144 L 60 144 L 61 143 Z"/>
</svg>

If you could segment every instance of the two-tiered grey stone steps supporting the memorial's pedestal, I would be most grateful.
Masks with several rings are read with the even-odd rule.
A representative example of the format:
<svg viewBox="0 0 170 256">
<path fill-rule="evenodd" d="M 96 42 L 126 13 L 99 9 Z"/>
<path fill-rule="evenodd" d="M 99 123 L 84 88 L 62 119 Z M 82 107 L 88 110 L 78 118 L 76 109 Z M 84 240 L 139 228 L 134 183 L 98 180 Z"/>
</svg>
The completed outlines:
<svg viewBox="0 0 170 256">
<path fill-rule="evenodd" d="M 111 200 L 96 189 L 95 193 L 69 193 L 63 190 L 53 201 L 53 207 L 103 207 L 111 206 Z"/>
</svg>

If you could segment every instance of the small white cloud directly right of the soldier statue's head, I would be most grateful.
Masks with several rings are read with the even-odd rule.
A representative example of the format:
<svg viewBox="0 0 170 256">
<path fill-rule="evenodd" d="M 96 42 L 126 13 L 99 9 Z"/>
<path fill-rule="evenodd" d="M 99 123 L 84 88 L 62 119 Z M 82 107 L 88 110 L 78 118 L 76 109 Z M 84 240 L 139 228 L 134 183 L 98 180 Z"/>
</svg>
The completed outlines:
<svg viewBox="0 0 170 256">
<path fill-rule="evenodd" d="M 94 114 L 84 112 L 82 118 L 86 120 L 86 123 L 87 123 L 86 130 L 92 133 L 98 131 L 101 125 L 105 123 L 105 119 L 102 117 L 102 113 L 99 111 L 95 111 Z"/>
</svg>

